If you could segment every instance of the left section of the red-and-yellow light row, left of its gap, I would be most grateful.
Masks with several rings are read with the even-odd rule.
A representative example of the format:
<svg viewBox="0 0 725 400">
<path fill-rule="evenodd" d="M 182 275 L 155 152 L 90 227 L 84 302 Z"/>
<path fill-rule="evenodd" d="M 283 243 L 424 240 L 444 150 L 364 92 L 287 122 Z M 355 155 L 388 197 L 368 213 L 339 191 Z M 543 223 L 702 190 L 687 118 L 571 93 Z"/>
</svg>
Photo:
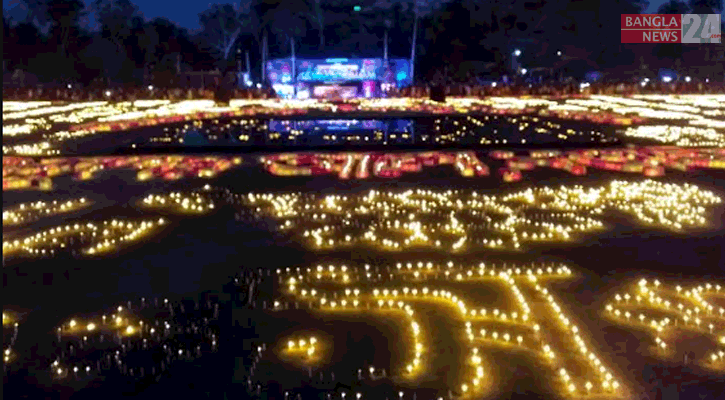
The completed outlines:
<svg viewBox="0 0 725 400">
<path fill-rule="evenodd" d="M 40 161 L 24 157 L 3 157 L 3 190 L 27 189 L 33 181 L 51 189 L 52 178 L 72 174 L 78 180 L 94 179 L 101 171 L 137 170 L 136 179 L 176 180 L 212 178 L 242 164 L 241 157 L 227 156 L 129 156 L 50 158 Z"/>
</svg>

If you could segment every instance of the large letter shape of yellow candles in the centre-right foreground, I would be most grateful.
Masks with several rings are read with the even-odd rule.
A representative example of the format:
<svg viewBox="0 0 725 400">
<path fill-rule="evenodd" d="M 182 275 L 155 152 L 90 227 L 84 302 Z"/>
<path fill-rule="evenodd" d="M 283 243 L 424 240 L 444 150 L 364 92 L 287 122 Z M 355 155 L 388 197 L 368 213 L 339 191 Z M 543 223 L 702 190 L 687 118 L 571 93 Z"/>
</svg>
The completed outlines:
<svg viewBox="0 0 725 400">
<path fill-rule="evenodd" d="M 330 266 L 330 271 L 332 271 L 333 267 Z M 319 269 L 319 268 L 318 268 Z M 327 269 L 327 267 L 326 267 Z M 420 299 L 425 300 L 427 299 L 436 299 L 437 301 L 444 301 L 448 304 L 453 306 L 453 309 L 456 310 L 456 312 L 464 318 L 465 321 L 465 327 L 466 332 L 470 343 L 475 345 L 476 341 L 487 339 L 491 340 L 493 339 L 494 343 L 500 343 L 502 345 L 506 346 L 520 346 L 525 349 L 528 349 L 526 341 L 524 340 L 524 336 L 520 334 L 511 334 L 511 332 L 501 331 L 489 334 L 487 336 L 487 332 L 485 329 L 477 329 L 480 330 L 481 336 L 478 337 L 477 335 L 473 335 L 473 322 L 474 321 L 481 321 L 481 320 L 496 320 L 500 322 L 505 322 L 506 324 L 510 324 L 511 327 L 527 327 L 529 329 L 532 329 L 535 332 L 539 332 L 541 330 L 541 327 L 536 324 L 537 318 L 532 318 L 536 316 L 536 314 L 531 313 L 530 306 L 528 304 L 528 301 L 526 300 L 526 296 L 519 290 L 517 286 L 517 282 L 526 282 L 527 284 L 530 284 L 532 286 L 536 286 L 537 288 L 540 288 L 541 291 L 543 291 L 542 296 L 544 296 L 544 299 L 548 300 L 555 310 L 557 310 L 557 314 L 559 319 L 561 320 L 562 326 L 567 327 L 566 329 L 572 332 L 572 337 L 575 339 L 575 341 L 578 343 L 578 347 L 580 349 L 586 349 L 586 351 L 583 352 L 583 354 L 586 358 L 586 362 L 588 363 L 589 368 L 592 371 L 598 371 L 599 373 L 603 374 L 609 374 L 608 370 L 604 365 L 602 365 L 602 361 L 599 357 L 597 357 L 593 352 L 589 351 L 589 349 L 583 344 L 584 341 L 580 337 L 580 328 L 577 326 L 574 326 L 570 323 L 569 318 L 564 314 L 561 307 L 558 306 L 558 304 L 555 303 L 552 294 L 548 292 L 547 289 L 541 288 L 538 282 L 543 282 L 546 279 L 552 279 L 554 277 L 556 278 L 566 278 L 571 277 L 572 272 L 568 268 L 564 266 L 550 266 L 545 268 L 539 268 L 540 272 L 537 272 L 538 279 L 532 280 L 533 277 L 533 271 L 536 271 L 536 268 L 501 268 L 496 269 L 495 267 L 489 267 L 486 270 L 486 274 L 481 277 L 479 274 L 474 274 L 473 272 L 478 272 L 480 270 L 479 267 L 475 267 L 474 269 L 465 269 L 464 267 L 457 267 L 454 266 L 453 263 L 448 263 L 447 265 L 440 265 L 435 266 L 432 263 L 418 263 L 417 265 L 414 263 L 409 263 L 407 265 L 401 265 L 398 264 L 398 266 L 394 269 L 396 273 L 391 277 L 392 279 L 396 279 L 395 276 L 397 275 L 399 278 L 402 278 L 404 276 L 414 276 L 414 272 L 422 273 L 418 275 L 421 280 L 425 281 L 427 279 L 433 279 L 436 274 L 440 274 L 442 276 L 445 276 L 446 279 L 448 279 L 451 282 L 476 282 L 480 280 L 499 280 L 511 288 L 512 295 L 515 299 L 519 302 L 519 308 L 516 311 L 509 311 L 509 310 L 500 310 L 500 309 L 494 309 L 488 312 L 485 309 L 478 308 L 478 307 L 472 307 L 470 304 L 466 302 L 466 300 L 460 296 L 459 294 L 456 294 L 450 290 L 438 290 L 438 289 L 429 289 L 427 287 L 423 287 L 422 289 L 410 289 L 409 287 L 402 286 L 402 287 L 370 287 L 369 290 L 359 290 L 357 288 L 352 287 L 346 287 L 341 289 L 340 293 L 336 294 L 334 292 L 323 292 L 319 294 L 315 294 L 313 296 L 314 299 L 319 299 L 319 302 L 316 304 L 319 305 L 323 310 L 325 311 L 334 311 L 338 310 L 339 308 L 335 307 L 335 304 L 344 304 L 342 301 L 345 300 L 345 297 L 350 298 L 350 296 L 354 293 L 354 299 L 355 301 L 358 301 L 358 303 L 354 303 L 354 308 L 346 308 L 345 310 L 376 310 L 381 312 L 387 312 L 387 311 L 393 311 L 393 310 L 405 310 L 406 313 L 409 316 L 413 316 L 413 310 L 408 305 L 408 301 Z M 449 274 L 445 274 L 443 272 L 450 272 Z M 469 273 L 471 272 L 471 273 Z M 488 272 L 491 272 L 490 274 Z M 288 273 L 290 275 L 286 277 L 281 277 L 283 280 L 288 280 L 290 276 L 299 276 L 299 278 L 302 280 L 302 282 L 308 282 L 309 284 L 316 284 L 318 280 L 312 279 L 312 280 L 306 280 L 304 279 L 304 274 L 307 273 L 308 276 L 314 277 L 318 273 L 318 271 L 315 271 L 314 269 L 307 269 L 305 271 L 301 271 L 300 269 L 297 270 L 297 272 L 291 272 L 288 269 Z M 374 275 L 372 274 L 370 266 L 366 265 L 364 269 L 361 269 L 360 273 L 352 273 L 350 275 L 351 277 L 354 276 L 359 279 L 368 279 L 373 280 Z M 342 283 L 344 278 L 342 276 L 328 276 L 328 279 L 331 279 L 332 282 L 336 283 Z M 439 276 L 439 279 L 442 279 Z M 355 282 L 352 282 L 353 284 Z M 406 290 L 408 289 L 408 290 Z M 303 290 L 308 290 L 307 293 L 309 293 L 310 288 L 305 288 Z M 314 289 L 312 289 L 314 290 Z M 336 300 L 334 302 L 323 302 L 322 300 L 328 297 L 332 298 L 340 298 L 340 300 Z M 377 304 L 377 308 L 371 309 L 369 306 L 372 304 Z M 315 304 L 315 303 L 312 303 Z M 349 303 L 348 303 L 349 304 Z M 473 311 L 476 311 L 475 313 Z M 411 321 L 411 333 L 413 334 L 411 338 L 413 338 L 414 345 L 412 346 L 414 351 L 414 354 L 411 354 L 411 361 L 409 363 L 406 363 L 405 365 L 405 372 L 409 374 L 411 377 L 416 376 L 418 373 L 425 371 L 425 368 L 427 366 L 423 365 L 421 363 L 422 356 L 425 354 L 425 352 L 429 351 L 427 347 L 424 345 L 422 341 L 418 341 L 418 338 L 421 339 L 425 336 L 425 333 L 420 330 L 420 325 L 417 322 Z M 518 328 L 517 328 L 518 329 Z M 515 331 L 517 332 L 517 331 Z M 423 334 L 423 336 L 421 336 Z M 500 341 L 499 341 L 500 339 Z M 554 360 L 557 358 L 555 353 L 552 351 L 551 347 L 547 344 L 543 344 L 544 352 L 541 353 L 542 356 L 546 357 L 549 360 Z M 536 350 L 533 350 L 535 353 L 538 353 Z M 482 363 L 482 358 L 478 356 L 478 349 L 472 348 L 473 355 L 470 357 L 470 363 L 472 366 L 472 370 L 470 378 L 465 379 L 465 383 L 461 382 L 461 385 L 467 385 L 468 391 L 473 393 L 479 393 L 478 390 L 481 389 L 480 382 L 481 378 L 483 376 L 483 368 L 479 368 L 480 364 Z M 411 352 L 413 353 L 413 352 Z M 566 351 L 563 352 L 566 357 Z M 463 378 L 463 377 L 462 377 Z M 586 378 L 589 378 L 589 375 L 581 376 L 581 377 L 572 377 L 566 374 L 564 376 L 564 380 L 566 381 L 566 384 L 574 384 L 575 382 L 578 384 L 581 382 L 582 387 L 586 387 L 585 382 L 588 382 Z M 601 382 L 599 382 L 601 383 Z M 460 386 L 462 387 L 462 386 Z M 593 390 L 588 389 L 588 390 Z"/>
</svg>

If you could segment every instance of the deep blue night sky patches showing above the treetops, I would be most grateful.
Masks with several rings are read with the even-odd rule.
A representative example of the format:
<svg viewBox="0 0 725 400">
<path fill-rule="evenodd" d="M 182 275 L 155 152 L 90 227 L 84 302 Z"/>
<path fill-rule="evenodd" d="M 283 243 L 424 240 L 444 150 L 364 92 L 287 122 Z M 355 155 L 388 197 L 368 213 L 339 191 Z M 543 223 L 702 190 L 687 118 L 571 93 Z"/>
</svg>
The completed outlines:
<svg viewBox="0 0 725 400">
<path fill-rule="evenodd" d="M 84 1 L 87 4 L 90 4 L 92 0 Z M 667 1 L 668 0 L 650 0 L 650 6 L 646 12 L 656 12 L 657 8 Z M 3 9 L 7 10 L 15 8 L 13 7 L 13 3 L 16 2 L 17 0 L 3 2 Z M 135 2 L 147 20 L 157 17 L 165 17 L 192 31 L 199 29 L 198 14 L 208 9 L 210 4 L 228 3 L 227 1 L 209 2 L 209 0 L 184 0 L 183 3 L 179 2 L 179 0 L 136 0 Z M 183 4 L 183 7 L 180 7 L 181 4 Z M 14 12 L 9 12 L 9 15 L 18 17 L 19 15 L 23 15 L 23 11 L 14 10 Z M 612 24 L 614 24 L 614 29 L 619 31 L 619 21 L 612 21 Z"/>
</svg>

